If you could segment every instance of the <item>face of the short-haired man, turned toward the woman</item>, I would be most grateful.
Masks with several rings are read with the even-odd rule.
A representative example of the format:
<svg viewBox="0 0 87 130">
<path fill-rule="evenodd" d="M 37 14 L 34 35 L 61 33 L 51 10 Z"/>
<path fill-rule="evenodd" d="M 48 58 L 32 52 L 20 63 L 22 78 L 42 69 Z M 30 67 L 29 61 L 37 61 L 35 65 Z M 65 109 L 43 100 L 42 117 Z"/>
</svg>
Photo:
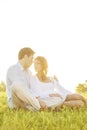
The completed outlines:
<svg viewBox="0 0 87 130">
<path fill-rule="evenodd" d="M 27 55 L 24 56 L 24 58 L 23 58 L 23 67 L 25 69 L 29 68 L 32 65 L 33 58 L 34 58 L 34 55 L 31 55 L 29 57 Z"/>
</svg>

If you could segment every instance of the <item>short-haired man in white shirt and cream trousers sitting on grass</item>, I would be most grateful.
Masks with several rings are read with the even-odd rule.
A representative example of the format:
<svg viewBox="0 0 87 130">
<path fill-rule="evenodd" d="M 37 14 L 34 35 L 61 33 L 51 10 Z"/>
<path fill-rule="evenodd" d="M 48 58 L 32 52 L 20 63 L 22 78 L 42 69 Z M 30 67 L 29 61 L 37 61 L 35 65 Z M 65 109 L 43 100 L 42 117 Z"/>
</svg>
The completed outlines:
<svg viewBox="0 0 87 130">
<path fill-rule="evenodd" d="M 24 47 L 18 53 L 18 63 L 7 71 L 6 93 L 10 108 L 27 108 L 39 110 L 39 101 L 30 93 L 31 71 L 28 69 L 33 62 L 34 51 Z"/>
</svg>

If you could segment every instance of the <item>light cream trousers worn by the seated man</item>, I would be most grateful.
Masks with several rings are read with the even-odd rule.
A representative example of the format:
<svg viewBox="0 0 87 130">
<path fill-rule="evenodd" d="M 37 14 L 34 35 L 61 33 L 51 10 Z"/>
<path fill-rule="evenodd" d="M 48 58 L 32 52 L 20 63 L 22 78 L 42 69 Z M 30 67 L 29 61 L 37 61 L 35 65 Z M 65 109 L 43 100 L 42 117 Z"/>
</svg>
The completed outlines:
<svg viewBox="0 0 87 130">
<path fill-rule="evenodd" d="M 14 83 L 11 87 L 12 102 L 16 107 L 27 108 L 31 111 L 38 111 L 40 104 L 29 91 L 29 88 L 21 83 Z"/>
</svg>

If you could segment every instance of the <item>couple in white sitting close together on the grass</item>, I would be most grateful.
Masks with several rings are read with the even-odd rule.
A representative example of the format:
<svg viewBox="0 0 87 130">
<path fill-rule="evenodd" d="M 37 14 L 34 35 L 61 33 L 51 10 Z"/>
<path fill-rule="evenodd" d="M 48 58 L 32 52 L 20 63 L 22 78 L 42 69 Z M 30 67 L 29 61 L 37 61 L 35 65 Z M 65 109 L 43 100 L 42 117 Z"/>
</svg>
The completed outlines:
<svg viewBox="0 0 87 130">
<path fill-rule="evenodd" d="M 6 93 L 9 107 L 38 111 L 61 105 L 84 106 L 85 99 L 80 94 L 72 94 L 57 79 L 47 76 L 47 60 L 42 56 L 34 59 L 34 54 L 31 48 L 22 48 L 18 53 L 18 63 L 7 71 Z M 33 59 L 36 75 L 32 75 L 29 70 Z"/>
</svg>

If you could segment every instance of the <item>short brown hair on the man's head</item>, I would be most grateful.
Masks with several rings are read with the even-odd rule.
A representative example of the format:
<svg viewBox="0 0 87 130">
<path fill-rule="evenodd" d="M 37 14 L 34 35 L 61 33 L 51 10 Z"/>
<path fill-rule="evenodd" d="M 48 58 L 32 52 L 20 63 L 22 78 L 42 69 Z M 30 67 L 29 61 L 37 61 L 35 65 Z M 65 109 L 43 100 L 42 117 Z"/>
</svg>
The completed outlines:
<svg viewBox="0 0 87 130">
<path fill-rule="evenodd" d="M 29 48 L 29 47 L 24 47 L 22 48 L 19 53 L 18 53 L 18 59 L 22 59 L 25 55 L 27 55 L 28 57 L 33 55 L 35 52 Z"/>
</svg>

